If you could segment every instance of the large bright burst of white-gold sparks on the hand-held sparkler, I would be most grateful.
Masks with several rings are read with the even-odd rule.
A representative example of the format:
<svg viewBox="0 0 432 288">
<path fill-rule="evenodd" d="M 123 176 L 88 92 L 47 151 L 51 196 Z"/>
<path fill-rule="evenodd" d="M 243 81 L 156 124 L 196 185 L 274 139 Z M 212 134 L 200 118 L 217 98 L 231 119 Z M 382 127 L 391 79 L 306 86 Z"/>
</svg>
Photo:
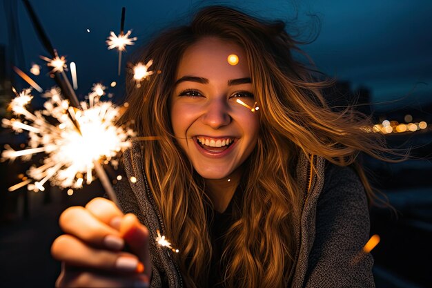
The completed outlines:
<svg viewBox="0 0 432 288">
<path fill-rule="evenodd" d="M 90 104 L 81 102 L 82 110 L 75 110 L 55 88 L 48 91 L 44 97 L 48 99 L 43 105 L 44 110 L 30 113 L 26 105 L 29 104 L 32 95 L 30 89 L 23 90 L 10 104 L 12 111 L 23 117 L 23 121 L 2 121 L 3 126 L 11 127 L 18 133 L 28 131 L 30 140 L 28 147 L 20 151 L 6 145 L 1 160 L 14 160 L 16 157 L 30 160 L 36 153 L 47 154 L 43 165 L 32 166 L 27 172 L 36 180 L 35 183 L 24 180 L 10 187 L 10 191 L 25 185 L 29 190 L 43 191 L 43 185 L 48 180 L 63 188 L 81 188 L 84 177 L 87 183 L 92 182 L 92 169 L 101 169 L 99 160 L 117 163 L 113 157 L 128 148 L 128 138 L 135 136 L 132 130 L 115 126 L 120 108 L 112 106 L 111 102 L 99 102 L 95 97 Z M 44 117 L 48 115 L 54 117 L 57 124 L 48 122 Z"/>
</svg>

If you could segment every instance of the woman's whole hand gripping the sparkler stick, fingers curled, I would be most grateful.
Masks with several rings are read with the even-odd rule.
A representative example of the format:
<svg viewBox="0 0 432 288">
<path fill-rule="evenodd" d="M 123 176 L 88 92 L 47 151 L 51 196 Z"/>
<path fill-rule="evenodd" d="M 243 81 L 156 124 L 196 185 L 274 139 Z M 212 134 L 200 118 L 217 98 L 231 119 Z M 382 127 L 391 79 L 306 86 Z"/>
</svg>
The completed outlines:
<svg viewBox="0 0 432 288">
<path fill-rule="evenodd" d="M 148 230 L 135 215 L 95 198 L 86 207 L 63 211 L 59 224 L 66 234 L 51 247 L 62 261 L 56 287 L 149 286 Z M 130 253 L 122 251 L 125 244 Z"/>
</svg>

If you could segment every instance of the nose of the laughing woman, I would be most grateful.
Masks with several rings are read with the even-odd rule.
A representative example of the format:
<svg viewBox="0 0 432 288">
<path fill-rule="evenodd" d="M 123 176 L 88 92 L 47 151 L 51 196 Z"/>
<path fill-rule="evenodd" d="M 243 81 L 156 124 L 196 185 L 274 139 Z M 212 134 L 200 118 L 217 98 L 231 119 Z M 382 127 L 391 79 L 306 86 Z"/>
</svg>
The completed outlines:
<svg viewBox="0 0 432 288">
<path fill-rule="evenodd" d="M 213 99 L 206 106 L 206 111 L 202 115 L 204 124 L 217 129 L 230 124 L 231 117 L 228 114 L 228 104 L 222 99 Z"/>
</svg>

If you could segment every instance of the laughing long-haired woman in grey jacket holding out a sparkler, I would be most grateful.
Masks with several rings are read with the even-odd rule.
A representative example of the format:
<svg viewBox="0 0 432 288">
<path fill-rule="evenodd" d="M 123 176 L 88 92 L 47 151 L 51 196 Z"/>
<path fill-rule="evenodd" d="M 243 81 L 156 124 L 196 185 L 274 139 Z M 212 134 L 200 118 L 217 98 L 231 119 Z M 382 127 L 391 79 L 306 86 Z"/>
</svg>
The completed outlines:
<svg viewBox="0 0 432 288">
<path fill-rule="evenodd" d="M 117 186 L 121 211 L 99 198 L 63 212 L 58 287 L 374 286 L 360 253 L 373 194 L 347 166 L 386 148 L 327 106 L 284 28 L 213 6 L 140 52 L 159 73 L 128 79 L 124 121 L 160 140 L 124 154 L 137 181 Z"/>
</svg>

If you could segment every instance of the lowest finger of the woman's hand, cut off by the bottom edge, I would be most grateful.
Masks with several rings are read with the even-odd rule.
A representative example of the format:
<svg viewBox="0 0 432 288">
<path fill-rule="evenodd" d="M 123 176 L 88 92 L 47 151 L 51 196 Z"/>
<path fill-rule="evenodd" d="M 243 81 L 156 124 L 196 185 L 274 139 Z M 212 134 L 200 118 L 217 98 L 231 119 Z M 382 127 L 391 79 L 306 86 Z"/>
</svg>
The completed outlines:
<svg viewBox="0 0 432 288">
<path fill-rule="evenodd" d="M 57 282 L 57 288 L 72 288 L 72 287 L 149 287 L 148 277 L 145 275 L 133 276 L 112 276 L 104 273 L 94 273 L 90 271 L 79 271 L 66 267 L 61 272 Z"/>
</svg>

